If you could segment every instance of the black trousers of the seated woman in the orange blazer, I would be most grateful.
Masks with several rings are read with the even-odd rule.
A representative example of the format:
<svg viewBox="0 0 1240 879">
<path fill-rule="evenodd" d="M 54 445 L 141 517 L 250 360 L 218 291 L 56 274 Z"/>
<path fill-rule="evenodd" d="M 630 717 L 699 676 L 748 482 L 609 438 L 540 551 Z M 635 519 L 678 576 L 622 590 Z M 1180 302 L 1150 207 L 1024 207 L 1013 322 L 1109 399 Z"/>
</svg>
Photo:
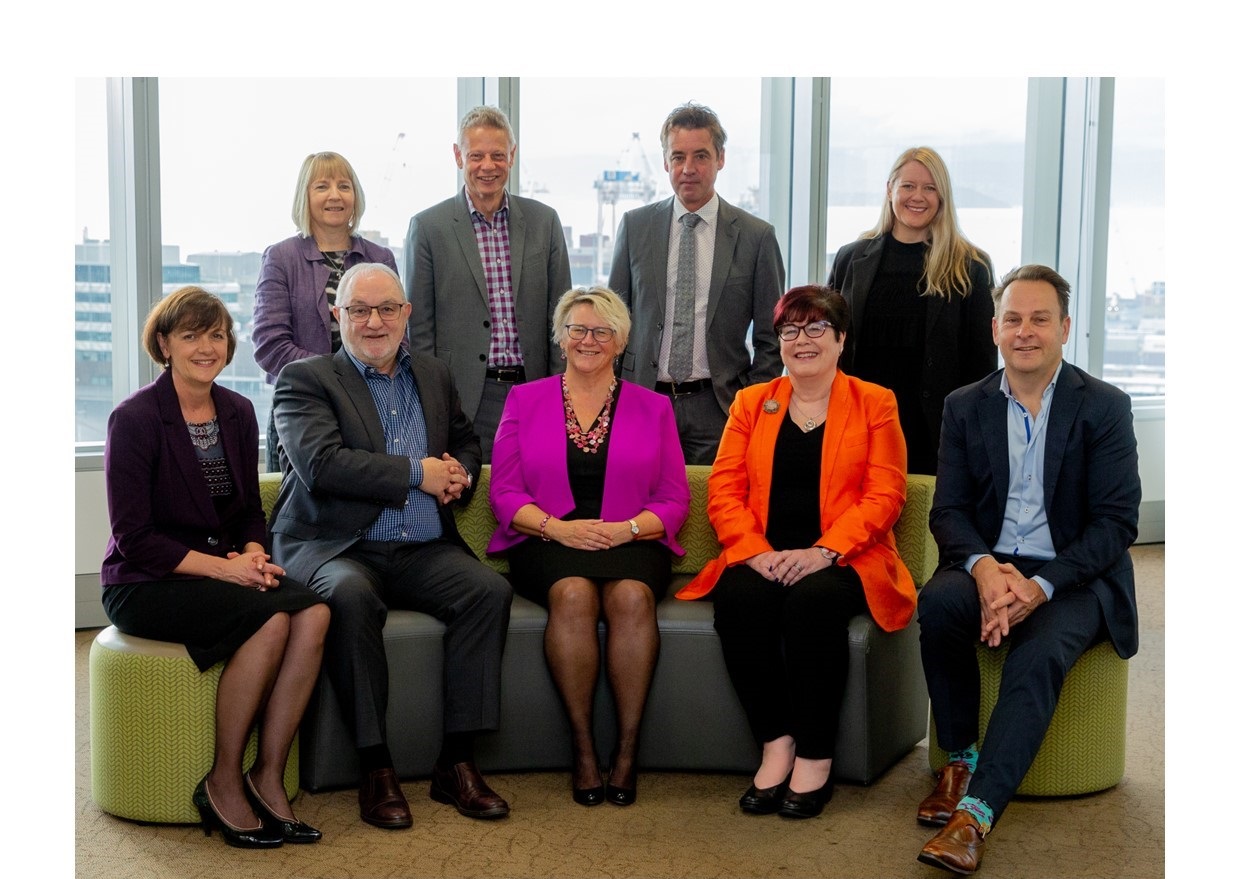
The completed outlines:
<svg viewBox="0 0 1240 879">
<path fill-rule="evenodd" d="M 833 758 L 848 681 L 848 621 L 869 612 L 853 568 L 825 568 L 792 586 L 746 564 L 711 593 L 723 658 L 759 743 L 796 740 L 797 756 Z"/>
</svg>

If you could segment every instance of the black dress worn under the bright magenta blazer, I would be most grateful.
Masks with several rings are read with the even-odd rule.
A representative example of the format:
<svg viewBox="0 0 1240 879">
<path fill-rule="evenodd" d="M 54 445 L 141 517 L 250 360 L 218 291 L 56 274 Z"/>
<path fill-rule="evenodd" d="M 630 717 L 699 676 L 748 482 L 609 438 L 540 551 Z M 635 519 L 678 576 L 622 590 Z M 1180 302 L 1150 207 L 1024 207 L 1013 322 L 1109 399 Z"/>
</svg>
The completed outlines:
<svg viewBox="0 0 1240 879">
<path fill-rule="evenodd" d="M 620 400 L 622 383 L 616 386 L 615 404 Z M 563 518 L 600 518 L 603 484 L 608 469 L 604 441 L 596 453 L 587 454 L 564 434 L 568 446 L 568 485 L 577 506 Z M 574 549 L 556 541 L 529 537 L 508 549 L 512 588 L 518 595 L 547 606 L 547 593 L 565 576 L 584 576 L 595 583 L 608 580 L 639 580 L 650 586 L 655 601 L 661 601 L 672 579 L 671 553 L 658 541 L 634 541 L 611 549 Z"/>
</svg>

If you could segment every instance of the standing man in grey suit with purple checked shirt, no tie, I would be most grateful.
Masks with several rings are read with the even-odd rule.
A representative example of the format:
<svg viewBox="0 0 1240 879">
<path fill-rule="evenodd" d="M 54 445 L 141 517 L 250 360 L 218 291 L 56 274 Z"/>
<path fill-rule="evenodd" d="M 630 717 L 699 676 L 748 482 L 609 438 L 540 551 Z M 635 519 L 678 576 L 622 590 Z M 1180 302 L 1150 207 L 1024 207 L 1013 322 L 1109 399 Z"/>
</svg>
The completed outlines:
<svg viewBox="0 0 1240 879">
<path fill-rule="evenodd" d="M 503 112 L 466 113 L 453 151 L 464 188 L 404 239 L 409 343 L 448 363 L 486 462 L 508 389 L 558 364 L 551 317 L 573 278 L 556 212 L 505 190 L 517 144 Z"/>
</svg>

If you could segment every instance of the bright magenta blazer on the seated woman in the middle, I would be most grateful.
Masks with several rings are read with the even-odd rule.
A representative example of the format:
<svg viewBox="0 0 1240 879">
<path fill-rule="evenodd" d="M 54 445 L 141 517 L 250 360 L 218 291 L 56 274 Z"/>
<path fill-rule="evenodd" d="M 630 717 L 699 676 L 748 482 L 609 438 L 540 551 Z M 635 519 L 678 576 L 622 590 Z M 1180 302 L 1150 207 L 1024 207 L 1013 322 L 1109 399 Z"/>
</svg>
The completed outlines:
<svg viewBox="0 0 1240 879">
<path fill-rule="evenodd" d="M 689 512 L 689 484 L 672 404 L 662 394 L 625 382 L 606 441 L 611 448 L 603 481 L 603 518 L 622 522 L 649 510 L 667 532 L 661 542 L 683 555 L 676 533 Z M 500 527 L 486 547 L 489 553 L 526 539 L 512 528 L 512 518 L 527 503 L 557 517 L 577 506 L 568 485 L 559 376 L 517 384 L 508 393 L 491 454 L 491 510 Z"/>
</svg>

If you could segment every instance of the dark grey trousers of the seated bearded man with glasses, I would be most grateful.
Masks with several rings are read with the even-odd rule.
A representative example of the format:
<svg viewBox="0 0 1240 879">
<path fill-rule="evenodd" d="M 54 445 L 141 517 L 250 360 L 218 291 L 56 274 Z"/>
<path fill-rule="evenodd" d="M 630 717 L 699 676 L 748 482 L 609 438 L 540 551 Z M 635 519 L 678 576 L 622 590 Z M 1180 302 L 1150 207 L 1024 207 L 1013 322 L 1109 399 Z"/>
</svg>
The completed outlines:
<svg viewBox="0 0 1240 879">
<path fill-rule="evenodd" d="M 500 663 L 512 586 L 448 541 L 363 541 L 324 564 L 310 588 L 327 599 L 331 627 L 324 667 L 357 748 L 387 743 L 388 607 L 420 610 L 444 632 L 444 731 L 500 725 Z"/>
</svg>

